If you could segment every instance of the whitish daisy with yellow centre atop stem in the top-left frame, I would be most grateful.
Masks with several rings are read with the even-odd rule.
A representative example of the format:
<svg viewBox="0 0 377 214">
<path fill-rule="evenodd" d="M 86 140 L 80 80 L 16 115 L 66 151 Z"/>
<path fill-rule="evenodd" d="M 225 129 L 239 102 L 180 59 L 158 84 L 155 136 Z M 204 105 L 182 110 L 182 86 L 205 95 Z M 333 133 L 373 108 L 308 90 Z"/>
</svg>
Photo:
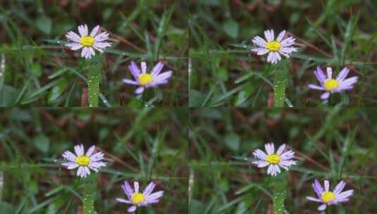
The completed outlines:
<svg viewBox="0 0 377 214">
<path fill-rule="evenodd" d="M 66 34 L 68 41 L 71 42 L 66 44 L 66 46 L 70 47 L 72 51 L 82 49 L 81 57 L 83 58 L 92 58 L 92 56 L 96 55 L 94 49 L 103 53 L 103 49 L 111 46 L 110 42 L 106 42 L 106 40 L 109 39 L 109 33 L 101 32 L 98 34 L 99 25 L 94 27 L 89 35 L 87 25 L 78 26 L 78 32 L 80 36 L 73 31 Z"/>
</svg>

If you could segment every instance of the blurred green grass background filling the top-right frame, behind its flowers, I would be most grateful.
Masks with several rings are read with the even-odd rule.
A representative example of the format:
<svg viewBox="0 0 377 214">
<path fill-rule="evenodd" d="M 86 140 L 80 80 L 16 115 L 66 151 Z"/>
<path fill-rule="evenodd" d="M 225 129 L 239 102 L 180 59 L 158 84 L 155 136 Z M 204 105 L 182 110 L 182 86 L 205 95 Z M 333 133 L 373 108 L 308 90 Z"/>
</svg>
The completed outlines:
<svg viewBox="0 0 377 214">
<path fill-rule="evenodd" d="M 266 56 L 250 53 L 252 37 L 288 30 L 299 51 L 288 61 L 285 106 L 375 106 L 377 1 L 221 1 L 190 4 L 190 106 L 266 107 L 273 103 L 273 74 Z M 347 93 L 321 102 L 317 65 L 344 67 L 359 82 Z"/>
</svg>

